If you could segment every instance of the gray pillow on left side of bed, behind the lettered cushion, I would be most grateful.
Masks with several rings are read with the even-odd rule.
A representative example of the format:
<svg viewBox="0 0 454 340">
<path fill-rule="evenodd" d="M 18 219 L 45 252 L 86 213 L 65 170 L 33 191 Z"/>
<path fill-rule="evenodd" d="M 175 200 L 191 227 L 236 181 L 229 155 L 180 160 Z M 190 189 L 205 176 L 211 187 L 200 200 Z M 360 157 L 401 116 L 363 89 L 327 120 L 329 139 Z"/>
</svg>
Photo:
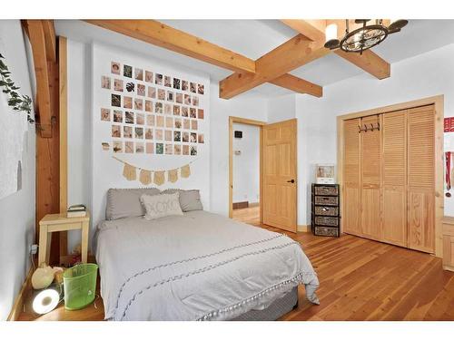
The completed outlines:
<svg viewBox="0 0 454 340">
<path fill-rule="evenodd" d="M 157 188 L 109 189 L 105 206 L 105 219 L 123 219 L 145 215 L 140 200 L 143 194 L 159 195 Z"/>
</svg>

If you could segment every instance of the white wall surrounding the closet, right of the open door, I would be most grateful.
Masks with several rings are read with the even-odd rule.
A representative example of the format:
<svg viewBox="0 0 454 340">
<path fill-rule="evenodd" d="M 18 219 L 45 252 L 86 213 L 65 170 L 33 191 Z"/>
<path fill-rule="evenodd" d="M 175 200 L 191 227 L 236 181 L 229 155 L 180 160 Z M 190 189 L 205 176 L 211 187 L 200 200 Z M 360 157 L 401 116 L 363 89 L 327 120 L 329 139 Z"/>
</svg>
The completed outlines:
<svg viewBox="0 0 454 340">
<path fill-rule="evenodd" d="M 378 81 L 368 73 L 323 88 L 323 98 L 297 95 L 299 121 L 299 224 L 311 222 L 310 183 L 316 163 L 336 163 L 336 116 L 444 94 L 445 116 L 454 116 L 454 44 L 391 64 L 391 76 Z M 454 133 L 445 133 L 454 141 Z M 451 142 L 454 149 L 454 142 Z M 337 171 L 337 169 L 336 169 Z M 454 215 L 454 199 L 445 198 Z"/>
</svg>

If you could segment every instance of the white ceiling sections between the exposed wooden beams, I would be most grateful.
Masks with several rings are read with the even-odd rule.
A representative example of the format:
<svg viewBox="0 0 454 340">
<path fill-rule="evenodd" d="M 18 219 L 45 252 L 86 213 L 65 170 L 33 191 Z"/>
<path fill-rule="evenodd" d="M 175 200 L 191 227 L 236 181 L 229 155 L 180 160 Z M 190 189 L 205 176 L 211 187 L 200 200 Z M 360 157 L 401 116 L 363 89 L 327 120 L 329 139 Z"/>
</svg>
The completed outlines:
<svg viewBox="0 0 454 340">
<path fill-rule="evenodd" d="M 253 60 L 285 43 L 297 33 L 279 20 L 159 20 L 186 33 L 196 35 Z M 178 63 L 198 72 L 208 73 L 219 82 L 232 71 L 203 63 L 183 54 L 143 43 L 79 20 L 55 20 L 55 32 L 84 43 L 99 42 L 128 49 L 133 53 L 153 55 L 167 62 Z M 410 58 L 454 43 L 454 20 L 410 20 L 398 34 L 390 35 L 372 50 L 389 63 Z M 291 74 L 325 86 L 363 73 L 357 66 L 335 54 L 308 63 Z M 392 76 L 392 75 L 391 75 Z M 370 75 L 371 77 L 371 75 Z M 379 81 L 378 81 L 379 82 Z M 270 83 L 262 84 L 242 95 L 280 96 L 291 93 Z"/>
</svg>

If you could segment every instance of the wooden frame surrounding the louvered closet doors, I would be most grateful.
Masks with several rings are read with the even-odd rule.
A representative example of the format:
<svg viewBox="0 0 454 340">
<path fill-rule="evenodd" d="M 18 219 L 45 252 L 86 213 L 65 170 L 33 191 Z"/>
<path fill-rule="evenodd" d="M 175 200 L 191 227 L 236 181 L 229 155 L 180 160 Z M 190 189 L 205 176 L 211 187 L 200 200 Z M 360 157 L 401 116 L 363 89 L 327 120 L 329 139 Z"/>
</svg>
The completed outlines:
<svg viewBox="0 0 454 340">
<path fill-rule="evenodd" d="M 434 105 L 435 108 L 435 256 L 443 257 L 443 234 L 442 221 L 444 216 L 444 160 L 443 160 L 443 143 L 444 143 L 444 95 L 440 94 L 433 97 L 422 98 L 416 101 L 400 102 L 392 105 L 382 106 L 375 109 L 352 112 L 337 116 L 337 162 L 339 184 L 343 181 L 343 121 L 353 118 L 360 118 L 380 113 L 387 113 L 400 110 L 408 110 L 418 106 Z M 343 186 L 341 185 L 341 197 L 343 197 Z M 344 200 L 341 199 L 341 211 L 344 211 Z M 343 220 L 341 219 L 341 231 L 343 230 Z"/>
</svg>

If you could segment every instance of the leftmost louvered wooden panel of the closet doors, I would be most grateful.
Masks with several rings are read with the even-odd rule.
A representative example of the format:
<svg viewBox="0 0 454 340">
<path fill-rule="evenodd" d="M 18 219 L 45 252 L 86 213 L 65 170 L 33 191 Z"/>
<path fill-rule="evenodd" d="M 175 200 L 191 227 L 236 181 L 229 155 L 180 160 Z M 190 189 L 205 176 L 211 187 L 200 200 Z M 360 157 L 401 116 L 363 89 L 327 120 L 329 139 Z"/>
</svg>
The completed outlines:
<svg viewBox="0 0 454 340">
<path fill-rule="evenodd" d="M 360 119 L 343 123 L 342 231 L 361 235 L 360 229 Z"/>
</svg>

